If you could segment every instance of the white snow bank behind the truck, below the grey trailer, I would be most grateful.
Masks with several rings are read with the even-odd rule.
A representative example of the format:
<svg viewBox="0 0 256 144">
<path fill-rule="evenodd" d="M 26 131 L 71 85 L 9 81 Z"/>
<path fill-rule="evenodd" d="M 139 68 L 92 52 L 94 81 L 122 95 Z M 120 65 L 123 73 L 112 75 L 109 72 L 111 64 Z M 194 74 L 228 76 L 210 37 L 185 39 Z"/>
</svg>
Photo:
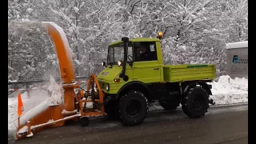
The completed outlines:
<svg viewBox="0 0 256 144">
<path fill-rule="evenodd" d="M 215 105 L 234 104 L 248 102 L 248 79 L 230 78 L 221 76 L 218 82 L 210 83 L 213 95 L 210 96 L 216 102 Z"/>
</svg>

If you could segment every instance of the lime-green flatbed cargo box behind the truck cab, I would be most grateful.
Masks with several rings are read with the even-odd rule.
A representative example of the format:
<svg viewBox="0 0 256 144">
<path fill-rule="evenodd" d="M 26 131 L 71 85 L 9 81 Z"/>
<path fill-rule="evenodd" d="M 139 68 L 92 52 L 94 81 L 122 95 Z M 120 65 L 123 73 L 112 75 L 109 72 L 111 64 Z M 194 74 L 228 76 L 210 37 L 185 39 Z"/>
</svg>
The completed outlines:
<svg viewBox="0 0 256 144">
<path fill-rule="evenodd" d="M 163 66 L 163 76 L 166 82 L 185 82 L 195 80 L 214 80 L 215 65 L 169 65 Z"/>
</svg>

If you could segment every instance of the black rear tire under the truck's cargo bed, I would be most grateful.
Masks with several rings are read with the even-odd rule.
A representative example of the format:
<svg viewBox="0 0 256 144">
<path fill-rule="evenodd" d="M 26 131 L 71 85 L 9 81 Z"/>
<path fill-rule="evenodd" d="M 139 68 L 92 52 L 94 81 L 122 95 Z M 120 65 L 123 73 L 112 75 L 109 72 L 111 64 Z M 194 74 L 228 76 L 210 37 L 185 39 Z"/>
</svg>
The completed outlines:
<svg viewBox="0 0 256 144">
<path fill-rule="evenodd" d="M 209 94 L 202 87 L 191 88 L 182 99 L 182 110 L 190 118 L 204 116 L 209 108 Z"/>
</svg>

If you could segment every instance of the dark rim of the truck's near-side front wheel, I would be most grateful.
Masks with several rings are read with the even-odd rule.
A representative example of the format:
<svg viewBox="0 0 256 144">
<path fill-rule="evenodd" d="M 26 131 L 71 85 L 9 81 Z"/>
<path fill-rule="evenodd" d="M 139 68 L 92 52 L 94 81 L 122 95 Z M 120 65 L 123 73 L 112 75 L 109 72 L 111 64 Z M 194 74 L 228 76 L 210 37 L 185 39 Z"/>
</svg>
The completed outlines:
<svg viewBox="0 0 256 144">
<path fill-rule="evenodd" d="M 128 102 L 126 106 L 126 113 L 130 115 L 130 117 L 136 117 L 140 114 L 142 110 L 142 105 L 137 100 L 131 100 Z"/>
</svg>

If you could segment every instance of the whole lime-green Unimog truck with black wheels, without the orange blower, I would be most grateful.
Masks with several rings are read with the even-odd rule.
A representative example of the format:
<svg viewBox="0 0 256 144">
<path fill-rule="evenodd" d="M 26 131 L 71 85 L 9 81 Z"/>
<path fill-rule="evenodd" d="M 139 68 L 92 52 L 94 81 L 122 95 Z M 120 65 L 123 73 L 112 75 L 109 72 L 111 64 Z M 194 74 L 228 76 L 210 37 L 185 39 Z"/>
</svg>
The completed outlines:
<svg viewBox="0 0 256 144">
<path fill-rule="evenodd" d="M 160 35 L 161 36 L 161 35 Z M 163 64 L 161 37 L 122 38 L 108 46 L 106 68 L 97 79 L 105 97 L 106 114 L 126 126 L 143 122 L 149 103 L 158 101 L 166 110 L 182 104 L 190 118 L 204 116 L 209 104 L 215 66 Z"/>
</svg>

